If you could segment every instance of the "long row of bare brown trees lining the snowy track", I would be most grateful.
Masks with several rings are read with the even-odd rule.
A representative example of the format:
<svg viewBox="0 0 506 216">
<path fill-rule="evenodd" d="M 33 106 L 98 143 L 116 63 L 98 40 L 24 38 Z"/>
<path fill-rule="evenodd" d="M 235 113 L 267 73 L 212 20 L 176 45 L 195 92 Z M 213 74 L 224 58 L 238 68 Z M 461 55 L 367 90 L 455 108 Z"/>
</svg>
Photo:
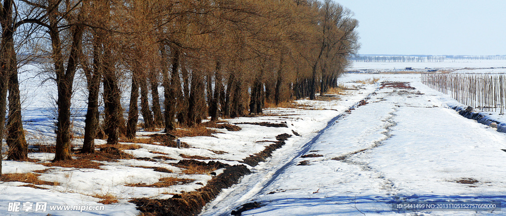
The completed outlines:
<svg viewBox="0 0 506 216">
<path fill-rule="evenodd" d="M 113 145 L 133 139 L 139 113 L 145 128 L 170 133 L 208 116 L 315 99 L 359 48 L 353 13 L 330 0 L 3 0 L 0 24 L 0 112 L 8 113 L 0 136 L 11 160 L 27 158 L 20 50 L 45 59 L 56 83 L 58 161 L 71 159 L 76 74 L 88 89 L 81 152 L 93 153 L 101 134 Z M 121 80 L 131 83 L 126 118 Z"/>
</svg>

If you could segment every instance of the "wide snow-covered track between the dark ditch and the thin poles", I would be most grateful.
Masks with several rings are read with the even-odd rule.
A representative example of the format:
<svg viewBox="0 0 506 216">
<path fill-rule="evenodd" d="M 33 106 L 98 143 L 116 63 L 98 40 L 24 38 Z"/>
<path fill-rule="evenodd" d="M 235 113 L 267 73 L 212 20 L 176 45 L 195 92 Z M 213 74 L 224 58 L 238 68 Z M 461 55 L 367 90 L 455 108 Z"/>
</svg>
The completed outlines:
<svg viewBox="0 0 506 216">
<path fill-rule="evenodd" d="M 506 134 L 458 115 L 448 108 L 452 99 L 417 75 L 378 78 L 415 89 L 377 89 L 367 104 L 332 119 L 305 145 L 276 151 L 201 215 L 229 215 L 254 201 L 261 207 L 241 215 L 505 214 L 392 209 L 401 201 L 499 201 L 504 209 Z M 307 154 L 316 155 L 301 157 Z"/>
</svg>

